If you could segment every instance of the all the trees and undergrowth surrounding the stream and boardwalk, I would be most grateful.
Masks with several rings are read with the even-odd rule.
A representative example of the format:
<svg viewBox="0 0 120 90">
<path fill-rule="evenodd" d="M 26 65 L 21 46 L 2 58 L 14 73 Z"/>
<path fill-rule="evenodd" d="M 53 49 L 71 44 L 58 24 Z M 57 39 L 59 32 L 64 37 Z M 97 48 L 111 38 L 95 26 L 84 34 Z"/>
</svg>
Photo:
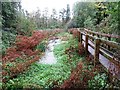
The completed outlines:
<svg viewBox="0 0 120 90">
<path fill-rule="evenodd" d="M 93 56 L 85 55 L 75 30 L 120 37 L 120 2 L 76 2 L 72 11 L 67 4 L 60 11 L 53 8 L 51 15 L 48 8 L 29 13 L 21 2 L 0 2 L 0 7 L 1 89 L 120 89 L 120 78 L 111 80 L 109 70 L 94 66 Z M 39 63 L 49 41 L 57 39 L 61 42 L 52 50 L 56 63 Z M 120 38 L 110 41 L 120 45 Z"/>
</svg>

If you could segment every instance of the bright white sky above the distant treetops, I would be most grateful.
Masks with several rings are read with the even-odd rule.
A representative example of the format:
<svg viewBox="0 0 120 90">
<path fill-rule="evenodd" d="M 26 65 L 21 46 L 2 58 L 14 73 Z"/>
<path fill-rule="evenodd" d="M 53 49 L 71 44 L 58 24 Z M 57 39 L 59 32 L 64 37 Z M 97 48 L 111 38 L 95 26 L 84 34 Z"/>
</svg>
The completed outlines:
<svg viewBox="0 0 120 90">
<path fill-rule="evenodd" d="M 49 10 L 49 13 L 52 12 L 52 9 L 55 8 L 57 13 L 62 8 L 67 7 L 67 4 L 70 5 L 70 9 L 72 10 L 73 4 L 80 0 L 21 0 L 22 8 L 27 10 L 29 13 L 36 11 L 37 7 L 43 11 L 46 7 Z"/>
</svg>

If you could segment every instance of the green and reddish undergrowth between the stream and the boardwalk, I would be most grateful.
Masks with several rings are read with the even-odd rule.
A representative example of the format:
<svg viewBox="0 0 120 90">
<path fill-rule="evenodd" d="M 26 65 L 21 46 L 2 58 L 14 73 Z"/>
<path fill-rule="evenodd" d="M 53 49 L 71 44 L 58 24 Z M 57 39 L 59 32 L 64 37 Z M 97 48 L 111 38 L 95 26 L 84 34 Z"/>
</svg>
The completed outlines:
<svg viewBox="0 0 120 90">
<path fill-rule="evenodd" d="M 92 57 L 89 56 L 85 60 L 84 55 L 79 54 L 79 44 L 76 38 L 68 33 L 57 34 L 57 37 L 63 41 L 53 50 L 57 59 L 56 64 L 35 62 L 26 72 L 4 83 L 3 88 L 5 90 L 53 88 L 89 88 L 94 90 L 111 87 L 108 76 L 103 72 L 101 66 L 94 67 L 90 63 Z M 36 48 L 45 51 L 45 42 L 43 41 Z M 21 60 L 18 61 L 21 62 Z"/>
</svg>

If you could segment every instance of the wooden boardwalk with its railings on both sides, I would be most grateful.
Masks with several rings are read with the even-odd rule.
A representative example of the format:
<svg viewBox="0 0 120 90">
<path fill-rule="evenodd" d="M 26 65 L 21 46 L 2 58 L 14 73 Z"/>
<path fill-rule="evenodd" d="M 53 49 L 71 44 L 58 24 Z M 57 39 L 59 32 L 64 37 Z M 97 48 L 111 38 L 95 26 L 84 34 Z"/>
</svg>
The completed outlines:
<svg viewBox="0 0 120 90">
<path fill-rule="evenodd" d="M 77 29 L 77 31 L 79 42 L 85 46 L 85 55 L 87 55 L 89 52 L 94 56 L 94 66 L 96 66 L 98 63 L 104 64 L 106 60 L 107 62 L 114 64 L 112 68 L 107 64 L 106 68 L 111 68 L 113 70 L 117 68 L 117 74 L 116 71 L 113 71 L 111 73 L 116 74 L 117 78 L 120 79 L 120 58 L 117 58 L 117 56 L 115 56 L 115 53 L 112 52 L 112 48 L 120 51 L 120 44 L 109 41 L 111 38 L 120 39 L 120 36 L 93 32 L 85 28 L 83 30 Z M 108 39 L 104 40 L 100 37 Z"/>
</svg>

